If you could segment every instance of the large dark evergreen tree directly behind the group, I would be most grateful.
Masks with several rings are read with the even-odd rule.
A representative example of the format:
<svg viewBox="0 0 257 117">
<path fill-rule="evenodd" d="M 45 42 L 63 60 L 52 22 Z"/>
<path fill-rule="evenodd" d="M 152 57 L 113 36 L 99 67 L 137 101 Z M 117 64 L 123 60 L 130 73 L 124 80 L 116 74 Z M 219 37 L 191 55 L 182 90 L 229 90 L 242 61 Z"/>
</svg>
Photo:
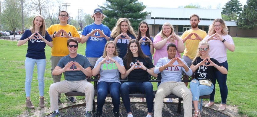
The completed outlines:
<svg viewBox="0 0 257 117">
<path fill-rule="evenodd" d="M 119 18 L 127 18 L 135 31 L 138 30 L 138 25 L 146 19 L 149 12 L 142 12 L 146 6 L 138 0 L 106 0 L 103 6 L 99 7 L 103 10 L 106 16 L 103 24 L 112 29 Z"/>
</svg>

